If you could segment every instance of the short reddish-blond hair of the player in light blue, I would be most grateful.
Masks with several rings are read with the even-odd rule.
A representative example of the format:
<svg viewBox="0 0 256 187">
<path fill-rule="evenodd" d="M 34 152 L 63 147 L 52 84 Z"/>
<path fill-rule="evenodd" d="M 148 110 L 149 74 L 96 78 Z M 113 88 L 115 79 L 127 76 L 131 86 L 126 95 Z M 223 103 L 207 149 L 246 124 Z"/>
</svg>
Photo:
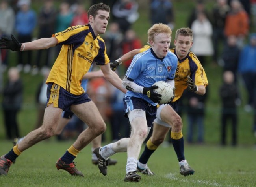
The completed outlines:
<svg viewBox="0 0 256 187">
<path fill-rule="evenodd" d="M 154 41 L 155 36 L 159 33 L 166 33 L 171 37 L 172 30 L 166 24 L 154 24 L 150 29 L 148 29 L 148 44 L 150 44 L 150 40 Z"/>
</svg>

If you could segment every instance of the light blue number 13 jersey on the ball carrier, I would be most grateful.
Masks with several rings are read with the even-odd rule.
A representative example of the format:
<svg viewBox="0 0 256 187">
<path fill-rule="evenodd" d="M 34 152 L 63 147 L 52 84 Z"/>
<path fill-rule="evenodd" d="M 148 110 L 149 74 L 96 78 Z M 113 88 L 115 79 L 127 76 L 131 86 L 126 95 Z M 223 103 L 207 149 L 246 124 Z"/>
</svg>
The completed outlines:
<svg viewBox="0 0 256 187">
<path fill-rule="evenodd" d="M 157 81 L 173 80 L 177 63 L 178 58 L 171 51 L 168 51 L 167 56 L 160 59 L 150 48 L 134 56 L 125 77 L 130 81 L 134 81 L 137 85 L 150 87 Z M 126 96 L 142 98 L 153 106 L 157 105 L 142 93 L 127 91 Z"/>
</svg>

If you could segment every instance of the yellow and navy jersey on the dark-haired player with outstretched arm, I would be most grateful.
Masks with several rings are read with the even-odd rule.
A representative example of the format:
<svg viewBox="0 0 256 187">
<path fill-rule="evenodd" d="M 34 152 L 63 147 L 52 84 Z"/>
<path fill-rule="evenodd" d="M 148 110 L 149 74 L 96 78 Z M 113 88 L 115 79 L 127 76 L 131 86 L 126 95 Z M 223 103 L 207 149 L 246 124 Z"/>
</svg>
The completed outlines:
<svg viewBox="0 0 256 187">
<path fill-rule="evenodd" d="M 69 27 L 52 37 L 56 37 L 58 45 L 62 47 L 46 83 L 54 82 L 74 95 L 83 94 L 85 91 L 81 87 L 82 78 L 92 63 L 109 63 L 104 40 L 95 36 L 89 24 Z"/>
</svg>

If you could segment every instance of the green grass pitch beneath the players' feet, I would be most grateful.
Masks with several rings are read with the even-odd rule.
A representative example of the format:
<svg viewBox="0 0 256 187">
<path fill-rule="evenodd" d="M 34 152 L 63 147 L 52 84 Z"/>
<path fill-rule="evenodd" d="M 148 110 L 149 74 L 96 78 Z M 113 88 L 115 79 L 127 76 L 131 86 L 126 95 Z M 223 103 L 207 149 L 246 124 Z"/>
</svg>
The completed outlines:
<svg viewBox="0 0 256 187">
<path fill-rule="evenodd" d="M 76 167 L 85 175 L 71 176 L 67 171 L 57 171 L 55 162 L 73 141 L 57 142 L 55 138 L 39 142 L 24 151 L 13 164 L 7 176 L 0 176 L 1 187 L 255 187 L 256 148 L 220 147 L 217 145 L 185 145 L 185 156 L 195 169 L 192 176 L 179 173 L 173 146 L 160 146 L 148 162 L 155 176 L 141 175 L 137 183 L 124 182 L 126 153 L 112 156 L 118 160 L 108 167 L 103 176 L 91 163 L 91 146 L 85 147 L 74 160 Z M 104 144 L 104 143 L 103 143 Z M 0 142 L 0 154 L 6 154 L 12 143 Z M 144 145 L 142 147 L 144 149 Z"/>
</svg>

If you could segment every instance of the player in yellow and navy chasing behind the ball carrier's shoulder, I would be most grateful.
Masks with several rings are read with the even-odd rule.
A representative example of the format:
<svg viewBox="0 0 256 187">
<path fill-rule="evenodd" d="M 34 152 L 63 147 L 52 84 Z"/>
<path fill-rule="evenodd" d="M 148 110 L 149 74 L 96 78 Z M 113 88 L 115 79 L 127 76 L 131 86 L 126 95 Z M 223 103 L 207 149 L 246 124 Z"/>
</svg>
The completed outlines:
<svg viewBox="0 0 256 187">
<path fill-rule="evenodd" d="M 157 149 L 157 147 L 165 140 L 167 132 L 171 127 L 171 139 L 174 150 L 176 152 L 180 174 L 187 176 L 195 171 L 189 166 L 184 156 L 184 140 L 182 135 L 182 119 L 176 113 L 178 109 L 178 99 L 182 96 L 185 89 L 193 91 L 196 94 L 203 95 L 208 85 L 206 73 L 197 56 L 190 52 L 193 45 L 193 32 L 189 28 L 181 28 L 176 31 L 174 40 L 174 49 L 170 49 L 178 57 L 178 65 L 175 74 L 175 97 L 169 105 L 160 105 L 157 109 L 156 119 L 154 120 L 153 133 L 148 140 L 144 152 L 141 154 L 137 163 L 137 171 L 143 174 L 153 175 L 147 166 L 148 159 Z M 138 53 L 144 53 L 150 49 L 145 45 L 142 49 L 134 49 L 124 54 L 115 62 L 110 62 L 111 69 L 116 67 L 123 61 L 132 58 Z"/>
</svg>

